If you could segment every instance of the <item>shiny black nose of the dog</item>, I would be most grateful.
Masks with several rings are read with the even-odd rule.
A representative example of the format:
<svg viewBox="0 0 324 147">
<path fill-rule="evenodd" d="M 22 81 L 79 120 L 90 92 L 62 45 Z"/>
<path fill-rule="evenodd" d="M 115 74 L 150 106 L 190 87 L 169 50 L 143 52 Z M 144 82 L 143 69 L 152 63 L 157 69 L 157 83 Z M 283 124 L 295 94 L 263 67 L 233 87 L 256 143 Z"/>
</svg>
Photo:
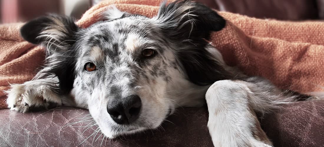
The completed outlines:
<svg viewBox="0 0 324 147">
<path fill-rule="evenodd" d="M 109 100 L 107 111 L 116 123 L 129 124 L 138 118 L 141 106 L 140 97 L 130 95 L 121 99 Z"/>
</svg>

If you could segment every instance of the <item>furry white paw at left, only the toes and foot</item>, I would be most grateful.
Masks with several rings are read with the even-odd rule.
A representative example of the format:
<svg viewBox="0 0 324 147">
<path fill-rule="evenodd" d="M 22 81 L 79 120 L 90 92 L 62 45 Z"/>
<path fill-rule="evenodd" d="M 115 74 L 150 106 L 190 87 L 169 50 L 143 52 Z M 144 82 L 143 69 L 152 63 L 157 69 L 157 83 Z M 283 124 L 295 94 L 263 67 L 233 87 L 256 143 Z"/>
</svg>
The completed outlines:
<svg viewBox="0 0 324 147">
<path fill-rule="evenodd" d="M 40 83 L 14 84 L 11 89 L 5 91 L 7 93 L 6 103 L 10 110 L 19 112 L 26 112 L 31 107 L 49 106 L 49 101 L 61 103 L 60 100 L 55 99 L 55 93 Z"/>
</svg>

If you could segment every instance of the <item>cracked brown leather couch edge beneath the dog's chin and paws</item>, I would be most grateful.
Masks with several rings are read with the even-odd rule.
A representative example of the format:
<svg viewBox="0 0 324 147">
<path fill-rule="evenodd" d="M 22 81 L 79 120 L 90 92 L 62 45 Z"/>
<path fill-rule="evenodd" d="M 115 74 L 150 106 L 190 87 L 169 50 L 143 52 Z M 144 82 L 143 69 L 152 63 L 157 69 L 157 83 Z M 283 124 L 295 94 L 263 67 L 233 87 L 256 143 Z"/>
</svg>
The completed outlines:
<svg viewBox="0 0 324 147">
<path fill-rule="evenodd" d="M 6 109 L 0 114 L 0 146 L 212 146 L 205 107 L 180 108 L 156 130 L 114 140 L 103 138 L 94 126 L 80 127 L 90 126 L 90 118 L 66 125 L 89 117 L 87 110 L 60 107 L 22 114 Z M 324 144 L 324 101 L 284 105 L 280 112 L 268 114 L 261 122 L 274 146 Z"/>
</svg>

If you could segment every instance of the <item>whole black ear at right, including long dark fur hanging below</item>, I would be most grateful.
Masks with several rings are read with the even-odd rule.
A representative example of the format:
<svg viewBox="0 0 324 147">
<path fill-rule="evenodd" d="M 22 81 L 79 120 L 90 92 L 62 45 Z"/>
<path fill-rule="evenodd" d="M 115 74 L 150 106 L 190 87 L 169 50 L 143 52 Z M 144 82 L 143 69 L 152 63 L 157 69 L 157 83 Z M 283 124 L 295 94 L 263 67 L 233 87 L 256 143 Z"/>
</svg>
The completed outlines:
<svg viewBox="0 0 324 147">
<path fill-rule="evenodd" d="M 191 82 L 209 85 L 230 79 L 231 73 L 206 50 L 211 32 L 225 26 L 223 17 L 203 4 L 178 0 L 169 5 L 162 3 L 153 19 L 172 42 L 176 59 Z"/>
</svg>

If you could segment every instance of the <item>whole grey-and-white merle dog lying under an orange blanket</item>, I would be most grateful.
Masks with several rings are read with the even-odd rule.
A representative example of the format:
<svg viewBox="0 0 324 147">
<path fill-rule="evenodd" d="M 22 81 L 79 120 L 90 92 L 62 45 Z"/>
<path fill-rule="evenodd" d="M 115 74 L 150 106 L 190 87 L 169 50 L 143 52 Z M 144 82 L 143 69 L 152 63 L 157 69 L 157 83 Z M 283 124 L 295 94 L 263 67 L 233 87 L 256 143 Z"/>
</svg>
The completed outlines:
<svg viewBox="0 0 324 147">
<path fill-rule="evenodd" d="M 181 107 L 207 103 L 214 146 L 272 146 L 257 114 L 318 97 L 282 90 L 227 66 L 208 40 L 226 26 L 214 10 L 190 0 L 162 2 L 152 18 L 111 7 L 80 28 L 49 15 L 21 27 L 46 48 L 44 67 L 6 91 L 11 110 L 88 109 L 108 138 L 155 129 Z"/>
</svg>

